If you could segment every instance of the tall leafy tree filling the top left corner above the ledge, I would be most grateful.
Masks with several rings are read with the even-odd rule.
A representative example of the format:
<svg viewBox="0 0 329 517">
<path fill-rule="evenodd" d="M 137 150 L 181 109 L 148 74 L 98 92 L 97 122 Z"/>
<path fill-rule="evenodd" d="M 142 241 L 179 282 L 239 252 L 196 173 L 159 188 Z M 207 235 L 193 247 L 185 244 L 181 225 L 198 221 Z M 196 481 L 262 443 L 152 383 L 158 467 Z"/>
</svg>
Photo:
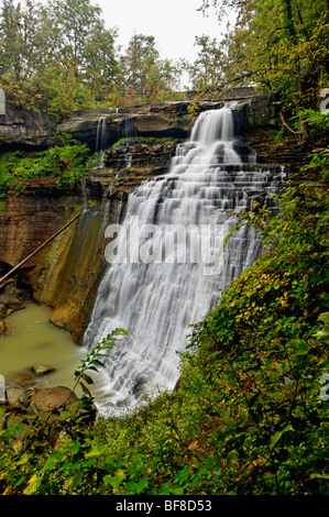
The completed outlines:
<svg viewBox="0 0 329 517">
<path fill-rule="evenodd" d="M 107 94 L 118 69 L 116 37 L 89 0 L 4 0 L 0 87 L 14 107 L 68 117 Z"/>
</svg>

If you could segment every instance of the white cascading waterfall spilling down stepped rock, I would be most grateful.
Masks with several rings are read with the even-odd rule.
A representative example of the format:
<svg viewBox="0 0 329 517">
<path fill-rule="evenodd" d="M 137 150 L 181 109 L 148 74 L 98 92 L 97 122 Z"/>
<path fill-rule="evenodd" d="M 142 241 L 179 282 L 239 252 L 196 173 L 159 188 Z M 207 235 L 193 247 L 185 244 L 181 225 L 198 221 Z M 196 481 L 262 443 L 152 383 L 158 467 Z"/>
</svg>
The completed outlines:
<svg viewBox="0 0 329 517">
<path fill-rule="evenodd" d="M 231 211 L 249 208 L 255 193 L 271 199 L 283 180 L 281 170 L 242 164 L 224 107 L 201 113 L 168 173 L 130 195 L 122 224 L 107 229 L 110 265 L 85 336 L 90 348 L 116 328 L 130 334 L 111 351 L 99 381 L 100 413 L 133 408 L 141 388 L 155 395 L 174 388 L 188 326 L 262 252 L 252 228 L 223 248 L 237 220 Z"/>
</svg>

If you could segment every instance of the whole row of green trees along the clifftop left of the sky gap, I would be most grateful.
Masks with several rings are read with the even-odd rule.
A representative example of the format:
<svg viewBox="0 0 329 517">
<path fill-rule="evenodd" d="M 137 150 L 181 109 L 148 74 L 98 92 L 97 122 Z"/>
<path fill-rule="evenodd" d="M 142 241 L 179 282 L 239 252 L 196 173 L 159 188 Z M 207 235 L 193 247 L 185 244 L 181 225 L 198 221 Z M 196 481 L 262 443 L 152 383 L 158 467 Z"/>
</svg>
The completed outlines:
<svg viewBox="0 0 329 517">
<path fill-rule="evenodd" d="M 121 55 L 117 37 L 90 0 L 2 2 L 0 87 L 8 106 L 62 120 L 127 99 L 173 99 L 182 66 L 160 58 L 153 36 L 134 36 Z"/>
</svg>

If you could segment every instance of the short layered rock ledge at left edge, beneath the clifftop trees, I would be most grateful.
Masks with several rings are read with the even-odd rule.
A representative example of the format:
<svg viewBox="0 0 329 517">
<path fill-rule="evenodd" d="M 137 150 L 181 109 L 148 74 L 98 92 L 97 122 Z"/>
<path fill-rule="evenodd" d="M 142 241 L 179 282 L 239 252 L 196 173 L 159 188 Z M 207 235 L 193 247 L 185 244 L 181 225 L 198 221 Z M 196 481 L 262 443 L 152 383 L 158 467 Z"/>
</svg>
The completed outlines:
<svg viewBox="0 0 329 517">
<path fill-rule="evenodd" d="M 54 145 L 53 121 L 45 113 L 17 111 L 0 116 L 0 150 L 46 148 Z"/>
</svg>

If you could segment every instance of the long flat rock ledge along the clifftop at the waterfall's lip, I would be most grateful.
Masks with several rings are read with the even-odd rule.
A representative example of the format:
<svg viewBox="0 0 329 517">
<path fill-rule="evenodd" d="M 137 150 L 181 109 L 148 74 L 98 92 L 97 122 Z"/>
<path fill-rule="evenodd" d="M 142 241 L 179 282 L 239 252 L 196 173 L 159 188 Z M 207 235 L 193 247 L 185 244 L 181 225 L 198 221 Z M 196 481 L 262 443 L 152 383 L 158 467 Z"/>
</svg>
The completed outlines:
<svg viewBox="0 0 329 517">
<path fill-rule="evenodd" d="M 240 134 L 277 124 L 277 94 L 250 96 L 242 91 L 241 95 L 242 97 L 228 98 L 240 103 Z M 217 109 L 224 100 L 202 101 L 198 108 L 195 106 L 195 109 Z M 69 120 L 59 124 L 46 113 L 15 111 L 9 108 L 4 116 L 0 116 L 0 151 L 46 148 L 58 143 L 58 135 L 62 133 L 70 134 L 74 140 L 87 144 L 91 151 L 99 151 L 98 138 L 102 122 L 106 130 L 102 150 L 109 148 L 120 139 L 131 136 L 186 139 L 193 124 L 188 114 L 189 105 L 189 101 L 177 101 L 83 110 L 74 112 Z"/>
</svg>

